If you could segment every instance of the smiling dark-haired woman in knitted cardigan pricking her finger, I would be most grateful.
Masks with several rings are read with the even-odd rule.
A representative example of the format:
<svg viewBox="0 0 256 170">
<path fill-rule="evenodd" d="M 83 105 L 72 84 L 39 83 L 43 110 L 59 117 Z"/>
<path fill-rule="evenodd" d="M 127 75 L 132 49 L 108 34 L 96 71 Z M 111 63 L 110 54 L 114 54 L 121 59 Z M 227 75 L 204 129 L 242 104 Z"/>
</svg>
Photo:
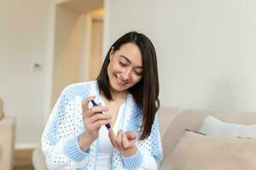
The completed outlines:
<svg viewBox="0 0 256 170">
<path fill-rule="evenodd" d="M 96 81 L 62 91 L 42 137 L 49 169 L 159 169 L 158 95 L 152 42 L 126 33 L 108 50 Z"/>
</svg>

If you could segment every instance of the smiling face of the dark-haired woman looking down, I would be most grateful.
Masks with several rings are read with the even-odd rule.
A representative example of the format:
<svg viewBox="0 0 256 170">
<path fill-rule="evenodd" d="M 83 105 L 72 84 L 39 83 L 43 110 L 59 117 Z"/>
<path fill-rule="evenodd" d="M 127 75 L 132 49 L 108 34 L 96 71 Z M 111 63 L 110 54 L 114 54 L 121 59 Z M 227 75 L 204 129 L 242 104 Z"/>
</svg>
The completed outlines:
<svg viewBox="0 0 256 170">
<path fill-rule="evenodd" d="M 143 56 L 134 43 L 125 43 L 109 54 L 108 78 L 110 89 L 124 92 L 143 77 Z"/>
</svg>

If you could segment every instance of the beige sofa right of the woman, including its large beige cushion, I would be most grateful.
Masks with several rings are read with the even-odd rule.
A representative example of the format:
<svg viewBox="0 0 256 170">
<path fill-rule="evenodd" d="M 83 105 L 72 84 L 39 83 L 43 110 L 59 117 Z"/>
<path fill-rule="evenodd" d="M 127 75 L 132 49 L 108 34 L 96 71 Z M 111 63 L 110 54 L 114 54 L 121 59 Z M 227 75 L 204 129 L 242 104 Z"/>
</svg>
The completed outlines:
<svg viewBox="0 0 256 170">
<path fill-rule="evenodd" d="M 168 122 L 168 114 L 160 116 L 160 128 L 165 160 L 163 170 L 253 170 L 256 169 L 256 139 L 227 136 L 209 136 L 194 133 L 187 135 L 186 129 L 198 132 L 206 116 L 214 116 L 222 122 L 255 125 L 256 113 L 184 110 L 174 111 Z M 255 130 L 254 130 L 254 133 Z M 195 135 L 196 134 L 196 135 Z"/>
</svg>

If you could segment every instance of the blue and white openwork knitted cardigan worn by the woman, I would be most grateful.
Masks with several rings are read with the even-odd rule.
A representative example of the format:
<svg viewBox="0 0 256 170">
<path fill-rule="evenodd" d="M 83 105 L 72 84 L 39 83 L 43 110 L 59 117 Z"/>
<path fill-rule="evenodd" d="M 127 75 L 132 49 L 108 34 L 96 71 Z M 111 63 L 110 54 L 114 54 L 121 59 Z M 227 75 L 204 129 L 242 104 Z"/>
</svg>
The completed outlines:
<svg viewBox="0 0 256 170">
<path fill-rule="evenodd" d="M 42 150 L 49 169 L 95 169 L 97 139 L 87 151 L 80 150 L 78 142 L 79 135 L 86 131 L 82 120 L 81 103 L 91 95 L 99 95 L 96 81 L 72 84 L 62 91 L 42 136 Z M 128 94 L 126 102 L 121 128 L 124 132 L 131 130 L 139 133 L 143 118 L 142 111 L 131 94 Z M 156 115 L 148 139 L 137 139 L 135 156 L 124 157 L 118 150 L 113 149 L 112 169 L 159 169 L 163 152 L 158 123 Z"/>
</svg>

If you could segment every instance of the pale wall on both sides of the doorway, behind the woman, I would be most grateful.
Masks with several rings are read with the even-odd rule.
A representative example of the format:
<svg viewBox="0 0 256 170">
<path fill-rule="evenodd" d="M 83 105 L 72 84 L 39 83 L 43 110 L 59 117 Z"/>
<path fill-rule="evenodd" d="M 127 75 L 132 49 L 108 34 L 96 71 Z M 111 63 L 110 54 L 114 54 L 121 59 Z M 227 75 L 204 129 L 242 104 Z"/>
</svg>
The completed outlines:
<svg viewBox="0 0 256 170">
<path fill-rule="evenodd" d="M 5 113 L 17 117 L 16 148 L 38 144 L 51 109 L 53 3 L 0 1 L 0 98 Z M 105 0 L 104 5 L 103 55 L 126 31 L 148 35 L 158 54 L 162 105 L 256 111 L 254 0 Z M 41 68 L 33 70 L 34 63 Z"/>
</svg>

